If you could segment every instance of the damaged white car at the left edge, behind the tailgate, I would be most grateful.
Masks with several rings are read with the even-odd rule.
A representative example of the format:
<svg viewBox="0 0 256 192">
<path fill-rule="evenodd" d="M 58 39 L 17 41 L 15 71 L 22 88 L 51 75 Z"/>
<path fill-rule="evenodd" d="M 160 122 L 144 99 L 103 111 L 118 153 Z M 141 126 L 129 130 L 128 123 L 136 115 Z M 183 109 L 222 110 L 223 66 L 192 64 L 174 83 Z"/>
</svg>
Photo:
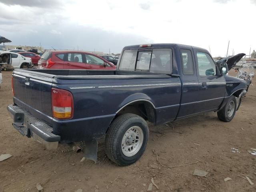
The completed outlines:
<svg viewBox="0 0 256 192">
<path fill-rule="evenodd" d="M 32 65 L 31 58 L 24 57 L 21 54 L 5 51 L 0 53 L 0 63 L 10 64 L 14 68 L 30 68 Z"/>
</svg>

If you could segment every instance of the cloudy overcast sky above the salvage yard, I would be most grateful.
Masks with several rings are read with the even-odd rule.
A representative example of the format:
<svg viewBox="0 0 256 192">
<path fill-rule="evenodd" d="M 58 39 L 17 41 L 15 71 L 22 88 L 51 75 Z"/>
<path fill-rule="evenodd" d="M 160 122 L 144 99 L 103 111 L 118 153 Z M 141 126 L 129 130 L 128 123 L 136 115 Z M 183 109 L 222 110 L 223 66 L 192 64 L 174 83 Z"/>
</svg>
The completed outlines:
<svg viewBox="0 0 256 192">
<path fill-rule="evenodd" d="M 213 56 L 256 50 L 256 0 L 0 0 L 0 36 L 10 45 L 119 53 L 143 43 L 179 43 Z M 252 52 L 252 51 L 251 51 Z"/>
</svg>

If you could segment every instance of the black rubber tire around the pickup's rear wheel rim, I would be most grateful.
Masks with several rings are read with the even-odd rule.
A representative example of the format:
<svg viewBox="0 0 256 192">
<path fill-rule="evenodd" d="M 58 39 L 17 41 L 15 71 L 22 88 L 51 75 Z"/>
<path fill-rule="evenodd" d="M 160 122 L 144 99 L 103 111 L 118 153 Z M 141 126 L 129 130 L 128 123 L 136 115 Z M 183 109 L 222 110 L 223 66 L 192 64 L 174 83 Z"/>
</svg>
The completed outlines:
<svg viewBox="0 0 256 192">
<path fill-rule="evenodd" d="M 126 156 L 122 151 L 124 150 L 124 147 L 122 147 L 122 140 L 123 138 L 128 136 L 127 133 L 133 127 L 139 127 L 142 130 L 143 137 L 141 136 L 141 138 L 143 138 L 143 142 L 140 142 L 142 143 L 142 145 L 139 149 L 136 148 L 136 150 L 138 150 L 136 154 L 132 156 Z M 118 118 L 116 118 L 110 124 L 110 127 L 108 128 L 108 131 L 106 133 L 106 154 L 110 160 L 120 166 L 127 166 L 133 164 L 142 156 L 142 154 L 146 150 L 148 136 L 148 124 L 142 117 L 131 113 L 118 116 Z M 135 147 L 136 146 L 134 146 L 134 150 Z"/>
</svg>

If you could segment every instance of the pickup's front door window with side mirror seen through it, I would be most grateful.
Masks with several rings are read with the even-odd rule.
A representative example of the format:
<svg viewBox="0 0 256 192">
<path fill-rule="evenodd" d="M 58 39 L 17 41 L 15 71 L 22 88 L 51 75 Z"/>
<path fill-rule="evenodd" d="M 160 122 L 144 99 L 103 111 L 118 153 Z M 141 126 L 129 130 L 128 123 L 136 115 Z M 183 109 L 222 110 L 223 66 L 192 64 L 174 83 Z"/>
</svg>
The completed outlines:
<svg viewBox="0 0 256 192">
<path fill-rule="evenodd" d="M 200 76 L 216 75 L 216 65 L 209 54 L 204 52 L 196 52 L 196 56 Z"/>
</svg>

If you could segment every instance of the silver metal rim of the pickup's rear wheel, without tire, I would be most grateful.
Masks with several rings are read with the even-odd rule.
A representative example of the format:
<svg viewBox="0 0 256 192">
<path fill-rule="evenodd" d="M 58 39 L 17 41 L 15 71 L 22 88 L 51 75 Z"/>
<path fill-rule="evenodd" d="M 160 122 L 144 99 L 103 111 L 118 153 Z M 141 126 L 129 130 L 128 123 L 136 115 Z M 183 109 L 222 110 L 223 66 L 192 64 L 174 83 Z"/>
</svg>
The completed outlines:
<svg viewBox="0 0 256 192">
<path fill-rule="evenodd" d="M 139 126 L 129 128 L 122 139 L 121 149 L 125 156 L 131 157 L 138 153 L 143 143 L 143 131 Z"/>
</svg>

